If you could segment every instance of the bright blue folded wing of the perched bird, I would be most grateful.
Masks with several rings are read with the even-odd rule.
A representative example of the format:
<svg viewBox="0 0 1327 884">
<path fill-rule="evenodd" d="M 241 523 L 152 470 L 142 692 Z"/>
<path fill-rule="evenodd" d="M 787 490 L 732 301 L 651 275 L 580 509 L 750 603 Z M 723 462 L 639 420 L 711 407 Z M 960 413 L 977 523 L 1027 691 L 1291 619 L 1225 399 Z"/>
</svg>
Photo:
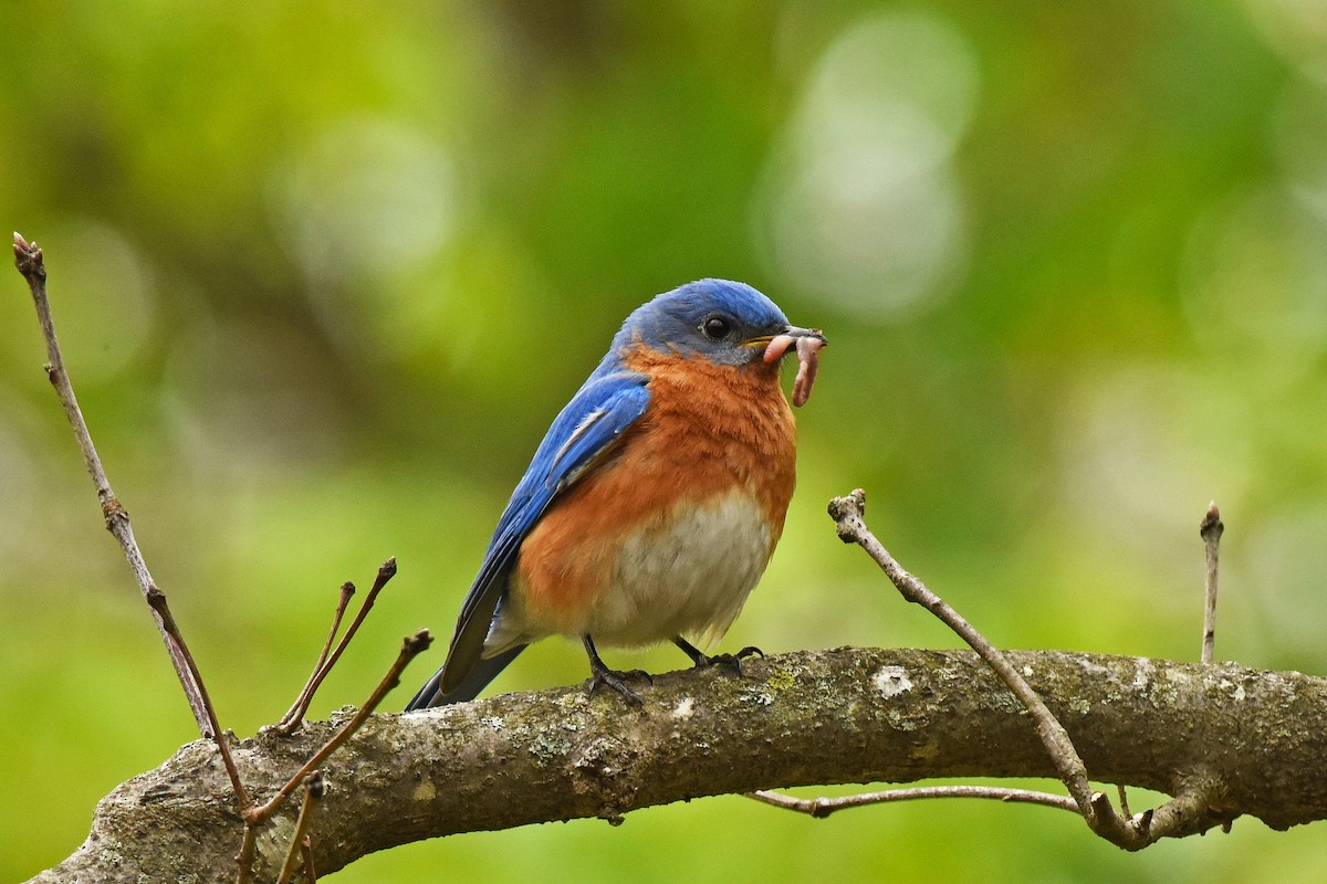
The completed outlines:
<svg viewBox="0 0 1327 884">
<path fill-rule="evenodd" d="M 608 455 L 622 432 L 649 404 L 649 378 L 632 371 L 591 376 L 563 408 L 535 452 L 498 520 L 479 574 L 456 620 L 456 632 L 441 672 L 441 688 L 451 691 L 479 660 L 494 611 L 507 592 L 516 553 L 548 505 Z"/>
</svg>

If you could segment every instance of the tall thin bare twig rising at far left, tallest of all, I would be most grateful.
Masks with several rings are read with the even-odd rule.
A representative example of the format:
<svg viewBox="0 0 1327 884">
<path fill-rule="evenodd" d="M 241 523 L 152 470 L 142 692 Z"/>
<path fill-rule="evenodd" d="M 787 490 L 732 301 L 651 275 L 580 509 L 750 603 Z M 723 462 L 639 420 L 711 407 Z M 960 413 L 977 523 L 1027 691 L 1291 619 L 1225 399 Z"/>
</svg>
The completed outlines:
<svg viewBox="0 0 1327 884">
<path fill-rule="evenodd" d="M 226 745 L 226 736 L 218 725 L 216 710 L 207 696 L 203 679 L 194 664 L 192 655 L 188 652 L 184 636 L 170 614 L 166 594 L 161 591 L 153 580 L 151 573 L 147 570 L 147 563 L 143 561 L 138 541 L 134 539 L 134 529 L 129 524 L 129 513 L 125 512 L 125 508 L 110 488 L 106 470 L 101 464 L 101 457 L 97 455 L 97 447 L 92 441 L 88 421 L 84 420 L 82 410 L 78 407 L 78 398 L 74 395 L 74 387 L 69 380 L 69 371 L 65 368 L 65 359 L 60 351 L 60 342 L 56 338 L 56 325 L 50 315 L 50 302 L 46 298 L 46 265 L 41 249 L 37 248 L 36 243 L 28 243 L 23 236 L 15 233 L 13 254 L 15 265 L 28 281 L 28 289 L 32 292 L 32 302 L 37 309 L 37 321 L 41 323 L 41 333 L 46 341 L 46 376 L 50 379 L 50 384 L 54 387 L 56 395 L 65 408 L 65 416 L 73 427 L 74 439 L 78 443 L 80 451 L 82 451 L 84 463 L 92 476 L 93 485 L 97 488 L 97 498 L 101 501 L 101 513 L 106 521 L 106 529 L 119 542 L 125 553 L 125 559 L 134 573 L 138 588 L 142 591 L 143 599 L 153 612 L 153 619 L 157 622 L 157 630 L 161 632 L 171 664 L 175 667 L 179 684 L 184 689 L 184 697 L 188 700 L 198 730 L 204 738 L 212 740 L 216 744 L 226 763 L 226 770 L 235 786 L 235 799 L 243 808 L 248 804 L 248 795 L 235 770 L 230 747 Z"/>
</svg>

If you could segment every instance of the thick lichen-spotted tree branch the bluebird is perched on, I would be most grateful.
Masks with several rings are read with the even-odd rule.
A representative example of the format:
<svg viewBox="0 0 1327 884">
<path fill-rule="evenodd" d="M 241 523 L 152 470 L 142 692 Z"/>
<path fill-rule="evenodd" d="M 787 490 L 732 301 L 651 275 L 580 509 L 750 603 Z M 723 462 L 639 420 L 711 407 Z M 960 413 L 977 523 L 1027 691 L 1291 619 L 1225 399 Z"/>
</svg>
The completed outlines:
<svg viewBox="0 0 1327 884">
<path fill-rule="evenodd" d="M 1067 652 L 1007 656 L 1093 777 L 1180 803 L 1217 795 L 1205 810 L 1216 823 L 1242 814 L 1273 828 L 1327 819 L 1327 679 Z M 1056 777 L 1023 705 L 971 652 L 798 652 L 744 669 L 742 679 L 660 676 L 642 688 L 640 712 L 576 687 L 374 716 L 322 765 L 317 868 L 325 875 L 373 851 L 456 832 L 584 816 L 617 823 L 638 807 L 703 795 Z M 253 794 L 280 789 L 352 712 L 307 722 L 293 737 L 268 728 L 239 742 L 235 758 Z M 1184 810 L 1173 804 L 1157 815 Z M 296 815 L 287 807 L 273 824 L 289 834 Z M 33 880 L 163 880 L 187 867 L 199 881 L 227 881 L 240 830 L 215 750 L 195 742 L 115 789 L 88 842 Z M 109 843 L 117 850 L 104 850 Z M 276 876 L 287 843 L 260 846 L 259 879 Z"/>
</svg>

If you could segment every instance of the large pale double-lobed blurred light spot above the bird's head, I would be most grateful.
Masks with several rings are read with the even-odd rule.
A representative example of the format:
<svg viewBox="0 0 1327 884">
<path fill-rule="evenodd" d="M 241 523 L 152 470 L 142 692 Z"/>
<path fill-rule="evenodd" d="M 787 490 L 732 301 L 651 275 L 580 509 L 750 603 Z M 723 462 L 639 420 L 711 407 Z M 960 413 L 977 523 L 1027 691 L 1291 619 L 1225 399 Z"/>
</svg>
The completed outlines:
<svg viewBox="0 0 1327 884">
<path fill-rule="evenodd" d="M 951 159 L 978 85 L 971 48 L 938 17 L 877 15 L 839 36 L 766 168 L 755 219 L 766 260 L 874 318 L 938 302 L 966 261 Z"/>
</svg>

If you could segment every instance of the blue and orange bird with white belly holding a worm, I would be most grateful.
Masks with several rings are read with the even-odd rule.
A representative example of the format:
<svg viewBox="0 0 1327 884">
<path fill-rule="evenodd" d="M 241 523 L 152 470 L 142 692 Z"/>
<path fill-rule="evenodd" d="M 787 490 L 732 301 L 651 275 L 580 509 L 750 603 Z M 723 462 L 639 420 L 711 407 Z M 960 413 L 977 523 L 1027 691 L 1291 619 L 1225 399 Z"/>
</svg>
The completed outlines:
<svg viewBox="0 0 1327 884">
<path fill-rule="evenodd" d="M 597 643 L 673 641 L 709 656 L 764 573 L 795 484 L 794 403 L 811 395 L 819 329 L 790 325 L 743 282 L 705 278 L 637 307 L 557 415 L 507 502 L 442 668 L 407 712 L 472 700 L 529 643 L 563 635 L 589 657 L 593 692 L 641 705 Z"/>
</svg>

